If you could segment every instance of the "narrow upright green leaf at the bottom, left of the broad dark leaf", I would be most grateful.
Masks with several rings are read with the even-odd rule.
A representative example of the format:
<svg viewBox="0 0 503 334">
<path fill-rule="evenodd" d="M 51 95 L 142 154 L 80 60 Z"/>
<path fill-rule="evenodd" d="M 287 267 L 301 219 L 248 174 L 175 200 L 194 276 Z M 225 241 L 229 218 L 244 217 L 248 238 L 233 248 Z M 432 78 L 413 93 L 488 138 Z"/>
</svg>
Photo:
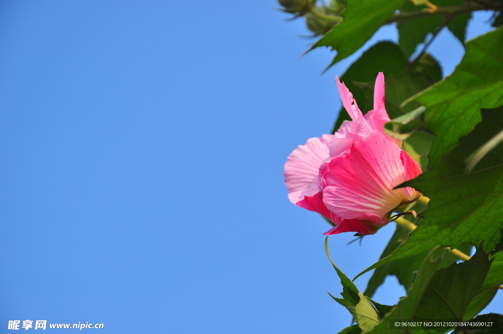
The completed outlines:
<svg viewBox="0 0 503 334">
<path fill-rule="evenodd" d="M 416 275 L 414 284 L 407 292 L 407 295 L 400 299 L 398 304 L 382 319 L 377 326 L 370 330 L 369 334 L 402 334 L 403 328 L 390 328 L 389 319 L 412 319 L 421 298 L 427 290 L 430 280 L 435 274 L 439 261 L 434 262 L 432 254 L 426 257 L 421 271 Z"/>
</svg>

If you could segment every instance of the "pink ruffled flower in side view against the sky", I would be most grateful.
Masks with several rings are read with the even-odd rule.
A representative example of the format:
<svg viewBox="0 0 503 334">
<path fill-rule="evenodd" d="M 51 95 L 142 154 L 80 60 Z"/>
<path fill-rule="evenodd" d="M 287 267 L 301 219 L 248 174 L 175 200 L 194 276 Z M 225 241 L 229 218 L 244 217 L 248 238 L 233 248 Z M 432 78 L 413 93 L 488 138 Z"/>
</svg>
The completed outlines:
<svg viewBox="0 0 503 334">
<path fill-rule="evenodd" d="M 420 175 L 421 167 L 401 150 L 400 141 L 384 134 L 389 117 L 383 74 L 376 79 L 374 110 L 365 116 L 346 86 L 336 81 L 352 121 L 344 121 L 333 135 L 308 139 L 288 156 L 288 198 L 335 223 L 326 235 L 374 234 L 389 222 L 395 207 L 421 195 L 409 187 L 394 189 Z"/>
</svg>

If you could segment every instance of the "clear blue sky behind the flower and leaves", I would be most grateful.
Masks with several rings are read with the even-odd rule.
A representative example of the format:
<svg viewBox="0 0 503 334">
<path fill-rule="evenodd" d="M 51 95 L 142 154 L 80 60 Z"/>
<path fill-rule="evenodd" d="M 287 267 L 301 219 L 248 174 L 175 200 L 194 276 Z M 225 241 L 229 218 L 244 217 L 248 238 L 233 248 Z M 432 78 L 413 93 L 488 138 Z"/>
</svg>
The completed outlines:
<svg viewBox="0 0 503 334">
<path fill-rule="evenodd" d="M 332 128 L 334 76 L 355 56 L 320 76 L 333 54 L 299 59 L 308 32 L 276 6 L 0 3 L 0 332 L 13 319 L 102 333 L 350 324 L 326 294 L 341 291 L 328 225 L 288 201 L 283 164 Z M 383 38 L 396 29 L 367 47 Z M 447 73 L 463 52 L 448 32 L 431 50 Z M 361 246 L 331 236 L 332 258 L 353 277 L 393 229 Z M 402 293 L 390 278 L 376 299 Z M 490 310 L 502 308 L 500 291 Z"/>
</svg>

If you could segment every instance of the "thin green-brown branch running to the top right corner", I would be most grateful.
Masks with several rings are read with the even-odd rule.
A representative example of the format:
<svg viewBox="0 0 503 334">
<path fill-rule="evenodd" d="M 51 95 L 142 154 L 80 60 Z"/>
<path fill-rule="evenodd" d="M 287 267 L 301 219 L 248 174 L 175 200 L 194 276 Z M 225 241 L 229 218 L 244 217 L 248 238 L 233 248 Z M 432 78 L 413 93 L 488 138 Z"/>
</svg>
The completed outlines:
<svg viewBox="0 0 503 334">
<path fill-rule="evenodd" d="M 483 10 L 495 10 L 499 11 L 501 10 L 503 6 L 500 4 L 490 4 L 490 5 L 480 5 L 477 3 L 468 3 L 467 5 L 462 5 L 462 6 L 445 6 L 445 7 L 438 7 L 435 12 L 431 12 L 430 9 L 424 9 L 421 11 L 415 11 L 415 12 L 401 12 L 398 14 L 393 15 L 386 21 L 386 24 L 393 23 L 393 22 L 402 22 L 410 19 L 417 19 L 417 18 L 422 18 L 426 16 L 432 16 L 432 15 L 451 15 L 454 16 L 456 14 L 460 13 L 468 13 L 468 12 L 474 12 L 474 11 L 483 11 Z"/>
</svg>

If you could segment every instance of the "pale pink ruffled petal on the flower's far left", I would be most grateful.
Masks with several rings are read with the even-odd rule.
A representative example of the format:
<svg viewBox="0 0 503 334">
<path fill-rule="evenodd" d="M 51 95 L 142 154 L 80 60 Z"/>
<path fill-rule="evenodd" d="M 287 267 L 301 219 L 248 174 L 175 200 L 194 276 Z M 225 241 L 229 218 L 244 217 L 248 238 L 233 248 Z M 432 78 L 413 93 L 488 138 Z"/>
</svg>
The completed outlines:
<svg viewBox="0 0 503 334">
<path fill-rule="evenodd" d="M 304 196 L 316 194 L 318 189 L 319 166 L 330 156 L 326 144 L 333 138 L 324 134 L 321 138 L 310 138 L 305 145 L 299 145 L 285 163 L 285 184 L 290 202 L 297 203 Z"/>
</svg>

